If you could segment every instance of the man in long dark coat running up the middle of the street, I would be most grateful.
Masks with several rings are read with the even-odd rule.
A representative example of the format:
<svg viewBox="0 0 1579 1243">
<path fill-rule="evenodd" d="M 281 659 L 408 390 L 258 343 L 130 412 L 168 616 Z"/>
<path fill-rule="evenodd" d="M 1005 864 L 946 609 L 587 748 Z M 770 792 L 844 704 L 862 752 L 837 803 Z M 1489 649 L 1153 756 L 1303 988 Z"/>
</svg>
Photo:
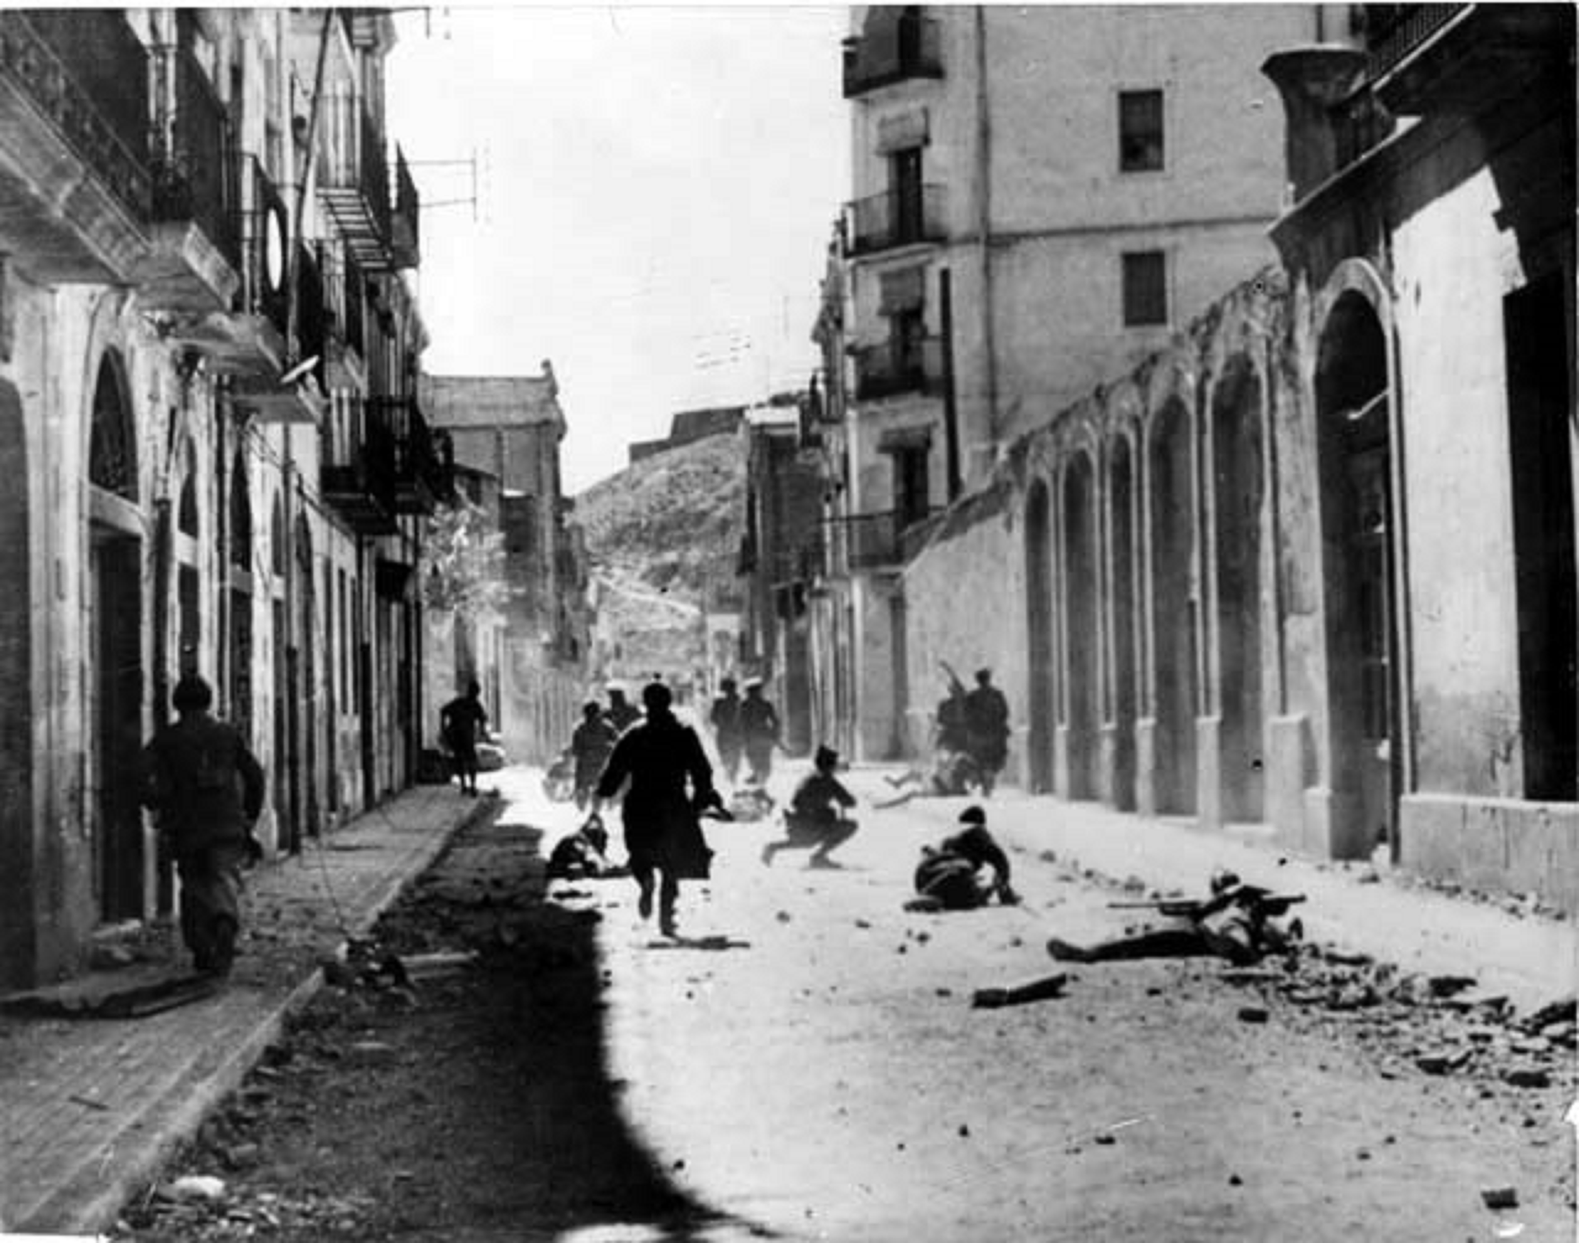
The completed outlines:
<svg viewBox="0 0 1579 1243">
<path fill-rule="evenodd" d="M 592 812 L 598 814 L 603 801 L 630 781 L 622 816 L 630 871 L 641 887 L 638 909 L 643 920 L 652 915 L 654 872 L 660 874 L 658 928 L 673 937 L 681 880 L 707 875 L 711 852 L 703 842 L 698 812 L 723 804 L 712 787 L 712 765 L 701 738 L 669 711 L 669 688 L 652 683 L 643 689 L 641 704 L 647 718 L 614 745 L 597 784 Z"/>
</svg>

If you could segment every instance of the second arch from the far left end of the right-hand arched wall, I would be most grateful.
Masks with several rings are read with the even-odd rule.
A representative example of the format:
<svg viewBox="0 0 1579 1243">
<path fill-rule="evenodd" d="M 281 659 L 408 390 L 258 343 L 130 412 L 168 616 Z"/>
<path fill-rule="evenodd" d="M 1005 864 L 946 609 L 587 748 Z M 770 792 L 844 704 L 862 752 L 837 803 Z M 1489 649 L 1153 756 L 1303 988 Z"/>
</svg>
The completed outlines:
<svg viewBox="0 0 1579 1243">
<path fill-rule="evenodd" d="M 1097 674 L 1101 640 L 1097 636 L 1097 541 L 1096 487 L 1091 456 L 1077 453 L 1064 470 L 1064 669 L 1069 691 L 1064 718 L 1069 798 L 1096 797 L 1096 760 L 1099 754 Z"/>
</svg>

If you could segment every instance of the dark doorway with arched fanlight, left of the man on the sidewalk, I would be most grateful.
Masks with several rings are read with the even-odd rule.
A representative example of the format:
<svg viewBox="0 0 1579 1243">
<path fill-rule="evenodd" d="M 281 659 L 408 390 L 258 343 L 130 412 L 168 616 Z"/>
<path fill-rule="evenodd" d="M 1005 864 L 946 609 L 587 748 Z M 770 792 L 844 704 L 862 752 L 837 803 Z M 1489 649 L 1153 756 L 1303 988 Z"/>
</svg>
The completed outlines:
<svg viewBox="0 0 1579 1243">
<path fill-rule="evenodd" d="M 88 637 L 93 751 L 93 871 L 101 920 L 144 912 L 145 842 L 137 798 L 142 752 L 142 522 L 137 437 L 125 374 L 106 352 L 88 432 Z"/>
</svg>

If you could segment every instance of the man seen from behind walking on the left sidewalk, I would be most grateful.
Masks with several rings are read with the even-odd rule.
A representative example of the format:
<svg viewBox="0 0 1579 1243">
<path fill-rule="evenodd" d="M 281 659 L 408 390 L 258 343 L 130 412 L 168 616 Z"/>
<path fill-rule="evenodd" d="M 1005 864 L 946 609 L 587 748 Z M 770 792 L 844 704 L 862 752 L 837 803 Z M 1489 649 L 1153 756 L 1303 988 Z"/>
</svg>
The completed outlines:
<svg viewBox="0 0 1579 1243">
<path fill-rule="evenodd" d="M 240 732 L 208 715 L 213 691 L 196 674 L 177 685 L 178 713 L 144 751 L 145 806 L 158 812 L 182 880 L 182 935 L 199 972 L 227 975 L 242 931 L 242 864 L 261 853 L 253 823 L 264 770 Z"/>
</svg>

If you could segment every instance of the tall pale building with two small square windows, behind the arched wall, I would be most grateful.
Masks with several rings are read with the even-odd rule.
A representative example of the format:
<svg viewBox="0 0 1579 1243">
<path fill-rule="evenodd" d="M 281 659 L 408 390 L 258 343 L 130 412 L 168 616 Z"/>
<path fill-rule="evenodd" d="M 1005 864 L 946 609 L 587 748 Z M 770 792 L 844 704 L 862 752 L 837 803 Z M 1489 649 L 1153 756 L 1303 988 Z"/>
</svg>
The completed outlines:
<svg viewBox="0 0 1579 1243">
<path fill-rule="evenodd" d="M 845 43 L 845 661 L 905 751 L 900 569 L 1006 443 L 1273 259 L 1268 52 L 1318 6 L 872 6 Z M 908 536 L 906 536 L 908 533 Z M 837 568 L 840 573 L 843 566 Z"/>
</svg>

